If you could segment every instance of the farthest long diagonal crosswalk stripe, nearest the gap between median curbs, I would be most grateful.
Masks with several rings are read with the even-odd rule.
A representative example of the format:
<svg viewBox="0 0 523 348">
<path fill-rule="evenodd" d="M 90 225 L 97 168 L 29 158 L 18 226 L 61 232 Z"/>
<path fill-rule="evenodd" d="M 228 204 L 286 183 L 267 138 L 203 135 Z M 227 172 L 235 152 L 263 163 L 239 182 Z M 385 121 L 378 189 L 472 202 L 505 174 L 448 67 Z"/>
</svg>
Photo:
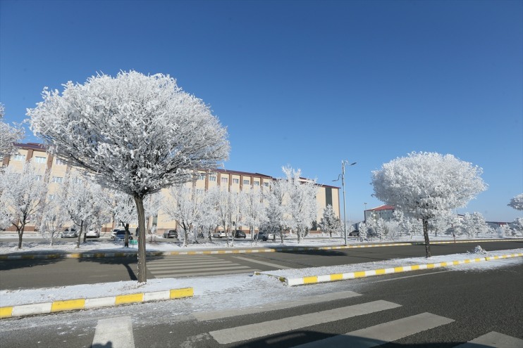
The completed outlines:
<svg viewBox="0 0 523 348">
<path fill-rule="evenodd" d="M 196 312 L 196 313 L 193 313 L 192 316 L 194 316 L 198 321 L 209 321 L 209 320 L 214 320 L 214 319 L 229 318 L 231 316 L 242 316 L 245 314 L 262 313 L 264 311 L 277 311 L 278 309 L 287 309 L 287 308 L 293 308 L 293 307 L 298 307 L 298 306 L 304 306 L 305 304 L 328 302 L 328 301 L 333 301 L 336 299 L 347 299 L 347 298 L 356 297 L 356 296 L 361 296 L 361 294 L 358 294 L 357 292 L 352 292 L 352 291 L 341 291 L 341 292 L 327 293 L 327 294 L 323 294 L 323 295 L 301 297 L 300 299 L 297 299 L 296 301 L 292 301 L 292 302 L 289 302 L 289 301 L 271 302 L 271 303 L 267 303 L 267 304 L 261 304 L 258 306 L 245 307 L 245 308 L 237 308 L 237 309 L 229 309 L 229 310 L 221 310 L 221 311 Z"/>
</svg>

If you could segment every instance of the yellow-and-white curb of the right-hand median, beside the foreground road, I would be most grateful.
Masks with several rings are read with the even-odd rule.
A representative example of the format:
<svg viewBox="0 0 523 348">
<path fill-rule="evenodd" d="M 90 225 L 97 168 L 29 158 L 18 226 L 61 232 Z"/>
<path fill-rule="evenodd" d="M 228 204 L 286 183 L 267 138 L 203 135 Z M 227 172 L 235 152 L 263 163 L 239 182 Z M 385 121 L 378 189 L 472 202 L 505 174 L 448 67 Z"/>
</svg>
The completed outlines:
<svg viewBox="0 0 523 348">
<path fill-rule="evenodd" d="M 271 277 L 277 278 L 282 283 L 285 283 L 285 285 L 295 286 L 295 285 L 304 285 L 304 284 L 326 283 L 326 282 L 332 282 L 332 281 L 345 281 L 347 279 L 364 278 L 364 277 L 370 277 L 370 276 L 382 276 L 384 274 L 401 273 L 401 272 L 407 272 L 407 271 L 417 271 L 419 269 L 436 269 L 439 267 L 456 266 L 459 264 L 470 264 L 473 262 L 491 261 L 491 260 L 495 260 L 495 259 L 508 259 L 510 257 L 523 257 L 523 252 L 518 253 L 518 254 L 505 254 L 505 255 L 491 256 L 491 257 L 478 257 L 475 259 L 463 259 L 463 260 L 455 260 L 455 261 L 447 261 L 447 262 L 438 262 L 435 264 L 415 264 L 415 265 L 411 265 L 411 266 L 391 267 L 388 269 L 373 269 L 373 270 L 369 270 L 369 271 L 355 271 L 355 272 L 348 272 L 348 273 L 332 273 L 332 274 L 324 274 L 324 275 L 318 275 L 318 276 L 306 276 L 306 277 L 301 277 L 301 278 L 287 278 L 284 276 L 274 276 L 269 273 L 261 273 L 261 272 L 254 272 L 254 274 L 271 276 Z"/>
</svg>

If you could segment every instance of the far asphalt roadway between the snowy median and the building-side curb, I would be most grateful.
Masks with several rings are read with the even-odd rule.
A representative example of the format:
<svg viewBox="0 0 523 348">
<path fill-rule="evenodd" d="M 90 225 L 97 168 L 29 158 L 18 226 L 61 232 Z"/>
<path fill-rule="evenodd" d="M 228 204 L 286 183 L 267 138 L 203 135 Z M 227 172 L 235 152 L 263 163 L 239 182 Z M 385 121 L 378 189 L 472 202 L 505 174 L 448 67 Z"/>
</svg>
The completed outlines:
<svg viewBox="0 0 523 348">
<path fill-rule="evenodd" d="M 457 254 L 471 251 L 477 244 L 476 242 L 432 245 L 431 250 L 434 256 Z M 485 250 L 507 250 L 520 248 L 522 245 L 523 242 L 496 241 L 482 243 L 481 247 Z M 147 262 L 147 278 L 249 273 L 256 270 L 299 269 L 424 256 L 424 245 L 408 245 L 346 250 L 216 254 L 204 257 L 187 255 L 151 257 Z M 192 262 L 196 258 L 198 262 Z M 205 260 L 207 261 L 204 262 Z M 156 267 L 160 262 L 161 267 Z M 219 264 L 225 266 L 219 267 Z M 0 260 L 0 272 L 0 290 L 130 281 L 137 279 L 137 259 L 136 257 L 104 257 Z"/>
</svg>

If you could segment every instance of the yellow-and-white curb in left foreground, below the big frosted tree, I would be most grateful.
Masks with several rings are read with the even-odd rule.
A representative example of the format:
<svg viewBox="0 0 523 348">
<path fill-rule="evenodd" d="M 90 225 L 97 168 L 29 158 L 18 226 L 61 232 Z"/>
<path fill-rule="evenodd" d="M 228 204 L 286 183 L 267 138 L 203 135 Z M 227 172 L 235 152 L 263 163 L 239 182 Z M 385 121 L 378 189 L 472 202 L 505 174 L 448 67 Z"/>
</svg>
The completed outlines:
<svg viewBox="0 0 523 348">
<path fill-rule="evenodd" d="M 142 302 L 162 301 L 166 299 L 181 299 L 192 297 L 192 288 L 171 289 L 155 292 L 140 292 L 136 294 L 117 295 L 87 299 L 66 299 L 63 301 L 44 302 L 35 304 L 22 304 L 19 306 L 0 307 L 0 318 L 18 316 L 33 316 L 49 314 L 59 311 L 78 311 L 80 309 L 94 309 L 101 307 L 114 307 L 121 304 L 136 304 Z"/>
</svg>

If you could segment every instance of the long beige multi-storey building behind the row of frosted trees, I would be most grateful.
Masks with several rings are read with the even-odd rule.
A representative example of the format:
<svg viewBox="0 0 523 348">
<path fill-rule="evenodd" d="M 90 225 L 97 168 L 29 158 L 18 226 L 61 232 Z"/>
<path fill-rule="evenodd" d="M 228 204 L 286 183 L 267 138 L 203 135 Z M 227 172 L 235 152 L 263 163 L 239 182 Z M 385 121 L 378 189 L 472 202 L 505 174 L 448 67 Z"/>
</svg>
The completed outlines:
<svg viewBox="0 0 523 348">
<path fill-rule="evenodd" d="M 46 152 L 46 149 L 39 143 L 18 143 L 16 144 L 18 153 L 11 157 L 5 157 L 2 161 L 4 167 L 15 167 L 22 169 L 24 162 L 32 160 L 36 165 L 42 166 L 42 172 L 49 169 L 49 174 L 46 178 L 48 185 L 47 199 L 53 199 L 54 192 L 61 185 L 66 174 L 69 171 L 76 170 L 74 167 L 66 165 L 63 160 Z M 270 190 L 271 181 L 275 180 L 272 176 L 259 173 L 238 172 L 234 170 L 215 169 L 213 171 L 199 171 L 195 183 L 187 183 L 187 187 L 194 185 L 196 190 L 208 190 L 216 186 L 223 190 L 240 192 L 246 188 L 257 188 L 260 190 Z M 303 181 L 308 179 L 302 178 Z M 327 205 L 332 205 L 335 214 L 340 217 L 340 194 L 339 187 L 318 184 L 318 192 L 316 195 L 317 212 L 316 221 L 319 221 L 323 215 L 324 208 Z M 168 189 L 161 191 L 162 195 L 168 195 Z M 130 226 L 135 228 L 136 221 Z M 176 221 L 169 220 L 168 217 L 159 210 L 156 217 L 147 221 L 148 226 L 153 224 L 157 227 L 157 233 L 161 233 L 167 229 L 176 228 Z M 104 231 L 110 231 L 115 227 L 114 222 L 103 226 Z M 13 229 L 11 227 L 11 229 Z M 8 229 L 9 231 L 9 229 Z M 35 226 L 27 225 L 25 231 L 35 231 Z"/>
</svg>

